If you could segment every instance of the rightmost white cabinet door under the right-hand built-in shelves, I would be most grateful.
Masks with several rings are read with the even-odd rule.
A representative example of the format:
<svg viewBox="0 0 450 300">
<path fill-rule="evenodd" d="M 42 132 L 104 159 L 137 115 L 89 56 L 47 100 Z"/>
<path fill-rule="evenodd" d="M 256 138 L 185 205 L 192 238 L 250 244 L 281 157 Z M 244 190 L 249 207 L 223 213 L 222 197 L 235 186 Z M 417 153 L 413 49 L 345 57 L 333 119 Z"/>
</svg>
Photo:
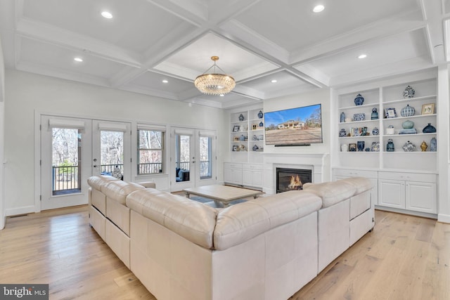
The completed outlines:
<svg viewBox="0 0 450 300">
<path fill-rule="evenodd" d="M 406 209 L 436 214 L 436 183 L 407 181 Z"/>
</svg>

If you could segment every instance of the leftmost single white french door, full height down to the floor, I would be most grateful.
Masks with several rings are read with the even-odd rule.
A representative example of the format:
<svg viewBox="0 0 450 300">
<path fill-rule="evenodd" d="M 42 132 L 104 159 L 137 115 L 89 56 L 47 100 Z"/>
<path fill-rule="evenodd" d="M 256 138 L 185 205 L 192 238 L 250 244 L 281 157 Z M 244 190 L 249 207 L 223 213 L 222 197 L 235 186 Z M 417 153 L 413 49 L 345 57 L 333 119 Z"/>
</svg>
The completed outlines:
<svg viewBox="0 0 450 300">
<path fill-rule="evenodd" d="M 86 204 L 91 120 L 41 116 L 41 209 Z"/>
</svg>

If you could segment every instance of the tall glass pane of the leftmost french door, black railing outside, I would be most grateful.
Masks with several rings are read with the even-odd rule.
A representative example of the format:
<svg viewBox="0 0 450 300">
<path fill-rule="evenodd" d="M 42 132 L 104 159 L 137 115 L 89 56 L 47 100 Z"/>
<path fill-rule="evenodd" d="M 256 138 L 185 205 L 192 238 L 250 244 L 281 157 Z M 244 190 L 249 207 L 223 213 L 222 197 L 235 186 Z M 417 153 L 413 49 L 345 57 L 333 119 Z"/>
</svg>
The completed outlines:
<svg viewBox="0 0 450 300">
<path fill-rule="evenodd" d="M 53 128 L 51 143 L 52 194 L 80 193 L 82 133 L 79 129 Z"/>
</svg>

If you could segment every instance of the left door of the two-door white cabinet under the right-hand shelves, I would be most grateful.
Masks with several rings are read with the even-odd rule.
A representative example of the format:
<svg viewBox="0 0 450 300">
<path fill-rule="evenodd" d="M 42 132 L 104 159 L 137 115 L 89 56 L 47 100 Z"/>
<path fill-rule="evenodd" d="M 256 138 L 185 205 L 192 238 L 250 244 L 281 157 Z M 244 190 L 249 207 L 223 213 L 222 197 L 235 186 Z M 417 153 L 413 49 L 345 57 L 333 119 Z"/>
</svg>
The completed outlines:
<svg viewBox="0 0 450 300">
<path fill-rule="evenodd" d="M 405 182 L 378 179 L 378 205 L 405 208 Z"/>
</svg>

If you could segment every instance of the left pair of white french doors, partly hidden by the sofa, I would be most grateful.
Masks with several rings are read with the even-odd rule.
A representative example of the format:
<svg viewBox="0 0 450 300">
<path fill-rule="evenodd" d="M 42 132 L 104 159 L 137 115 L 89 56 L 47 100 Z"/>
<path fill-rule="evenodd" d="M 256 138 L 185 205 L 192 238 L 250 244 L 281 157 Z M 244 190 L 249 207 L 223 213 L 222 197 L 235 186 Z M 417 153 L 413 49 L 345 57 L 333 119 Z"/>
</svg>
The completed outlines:
<svg viewBox="0 0 450 300">
<path fill-rule="evenodd" d="M 131 180 L 129 123 L 41 116 L 41 210 L 88 202 L 87 178 Z"/>
</svg>

